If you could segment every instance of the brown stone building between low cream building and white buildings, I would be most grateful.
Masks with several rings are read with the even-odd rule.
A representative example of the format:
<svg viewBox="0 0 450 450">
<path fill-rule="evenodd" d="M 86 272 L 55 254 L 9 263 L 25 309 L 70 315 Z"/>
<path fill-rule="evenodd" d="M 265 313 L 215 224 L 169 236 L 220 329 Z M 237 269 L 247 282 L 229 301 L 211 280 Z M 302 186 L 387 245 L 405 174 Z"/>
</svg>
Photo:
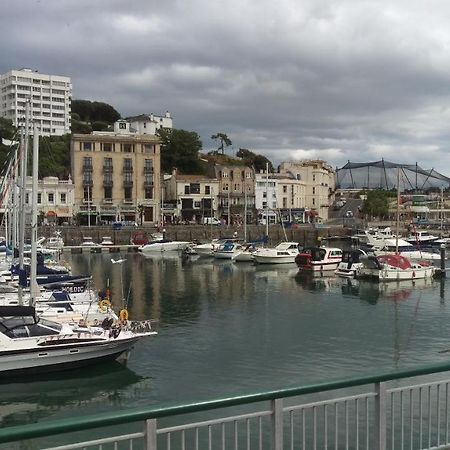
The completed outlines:
<svg viewBox="0 0 450 450">
<path fill-rule="evenodd" d="M 219 215 L 227 223 L 243 223 L 246 207 L 247 222 L 256 221 L 255 171 L 244 165 L 223 164 L 216 164 L 214 170 L 219 180 Z"/>
</svg>

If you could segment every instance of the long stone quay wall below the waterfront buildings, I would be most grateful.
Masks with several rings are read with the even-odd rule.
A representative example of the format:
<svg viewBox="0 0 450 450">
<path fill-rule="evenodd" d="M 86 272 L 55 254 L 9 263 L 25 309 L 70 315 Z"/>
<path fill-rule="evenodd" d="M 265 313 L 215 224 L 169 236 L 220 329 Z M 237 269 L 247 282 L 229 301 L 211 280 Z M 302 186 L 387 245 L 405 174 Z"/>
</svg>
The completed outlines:
<svg viewBox="0 0 450 450">
<path fill-rule="evenodd" d="M 61 232 L 65 245 L 80 245 L 84 237 L 91 237 L 94 242 L 100 243 L 104 236 L 109 236 L 115 245 L 130 244 L 130 239 L 136 231 L 145 231 L 148 236 L 157 232 L 155 227 L 126 227 L 121 230 L 114 230 L 110 226 L 64 226 L 39 227 L 38 236 L 50 237 L 55 230 Z M 242 227 L 215 226 L 209 225 L 167 225 L 165 227 L 166 238 L 180 241 L 199 241 L 208 242 L 211 238 L 232 237 L 237 232 L 239 239 L 244 238 Z M 251 225 L 247 227 L 247 240 L 261 239 L 265 235 L 265 226 Z M 286 233 L 286 236 L 285 236 Z M 277 245 L 287 238 L 288 241 L 299 242 L 301 245 L 316 245 L 321 239 L 330 236 L 349 236 L 351 230 L 341 227 L 321 227 L 314 228 L 311 225 L 301 226 L 299 228 L 288 228 L 283 230 L 280 225 L 271 225 L 269 227 L 269 244 Z M 27 233 L 29 236 L 29 234 Z"/>
</svg>

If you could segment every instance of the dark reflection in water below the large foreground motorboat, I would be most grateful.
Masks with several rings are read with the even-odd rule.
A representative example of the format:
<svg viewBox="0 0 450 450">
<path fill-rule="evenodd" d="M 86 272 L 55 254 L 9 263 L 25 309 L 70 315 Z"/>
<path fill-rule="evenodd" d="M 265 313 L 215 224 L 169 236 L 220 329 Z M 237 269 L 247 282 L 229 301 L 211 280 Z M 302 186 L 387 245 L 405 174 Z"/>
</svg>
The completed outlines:
<svg viewBox="0 0 450 450">
<path fill-rule="evenodd" d="M 0 384 L 0 426 L 34 422 L 68 409 L 84 414 L 88 409 L 127 407 L 151 387 L 149 378 L 118 362 L 34 376 L 30 381 L 16 378 Z"/>
</svg>

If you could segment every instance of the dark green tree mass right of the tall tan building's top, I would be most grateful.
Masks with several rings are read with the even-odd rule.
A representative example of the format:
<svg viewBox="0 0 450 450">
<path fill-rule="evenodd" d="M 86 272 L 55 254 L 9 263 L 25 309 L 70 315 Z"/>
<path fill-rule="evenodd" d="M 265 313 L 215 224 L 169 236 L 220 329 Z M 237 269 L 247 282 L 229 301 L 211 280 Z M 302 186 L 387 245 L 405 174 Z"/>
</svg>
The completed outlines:
<svg viewBox="0 0 450 450">
<path fill-rule="evenodd" d="M 202 149 L 200 136 L 194 131 L 160 128 L 161 171 L 170 172 L 176 167 L 181 173 L 200 174 L 203 168 L 198 158 Z"/>
</svg>

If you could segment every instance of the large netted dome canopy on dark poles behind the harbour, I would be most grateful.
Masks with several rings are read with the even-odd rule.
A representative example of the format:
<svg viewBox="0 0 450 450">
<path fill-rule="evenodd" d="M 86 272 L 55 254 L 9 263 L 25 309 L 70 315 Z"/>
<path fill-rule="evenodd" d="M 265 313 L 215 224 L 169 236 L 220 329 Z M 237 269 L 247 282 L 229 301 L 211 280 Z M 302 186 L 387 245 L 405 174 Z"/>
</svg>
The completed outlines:
<svg viewBox="0 0 450 450">
<path fill-rule="evenodd" d="M 400 189 L 427 190 L 450 187 L 450 178 L 434 169 L 422 169 L 416 164 L 399 164 L 381 161 L 348 162 L 336 169 L 336 187 L 340 189 L 396 189 L 397 172 L 400 171 Z"/>
</svg>

